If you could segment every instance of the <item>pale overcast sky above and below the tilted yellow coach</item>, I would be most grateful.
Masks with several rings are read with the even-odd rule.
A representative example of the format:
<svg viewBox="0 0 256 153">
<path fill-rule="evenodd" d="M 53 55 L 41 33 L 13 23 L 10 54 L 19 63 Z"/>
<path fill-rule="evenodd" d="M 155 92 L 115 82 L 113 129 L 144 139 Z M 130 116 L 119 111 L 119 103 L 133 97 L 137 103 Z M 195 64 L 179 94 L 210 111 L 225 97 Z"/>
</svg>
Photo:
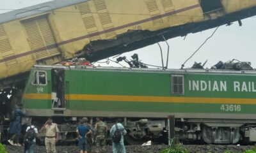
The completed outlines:
<svg viewBox="0 0 256 153">
<path fill-rule="evenodd" d="M 47 2 L 47 0 L 0 0 L 0 13 L 44 2 Z M 237 22 L 230 26 L 223 25 L 219 27 L 214 36 L 185 64 L 185 68 L 191 67 L 195 61 L 205 62 L 208 60 L 205 68 L 211 68 L 218 61 L 227 62 L 232 59 L 252 62 L 253 68 L 256 68 L 256 17 L 246 18 L 242 22 L 243 26 L 241 27 Z M 170 45 L 168 68 L 180 68 L 181 64 L 204 43 L 205 39 L 211 36 L 214 30 L 215 28 L 200 33 L 188 34 L 185 40 L 184 37 L 168 40 Z M 162 42 L 160 44 L 164 52 L 164 63 L 166 63 L 166 43 Z M 127 59 L 131 59 L 131 55 L 134 53 L 139 55 L 142 62 L 161 66 L 160 48 L 157 44 L 122 54 L 122 56 L 125 55 Z M 127 66 L 124 62 L 122 64 Z M 100 66 L 106 65 L 100 63 Z M 110 62 L 109 66 L 119 65 Z"/>
</svg>

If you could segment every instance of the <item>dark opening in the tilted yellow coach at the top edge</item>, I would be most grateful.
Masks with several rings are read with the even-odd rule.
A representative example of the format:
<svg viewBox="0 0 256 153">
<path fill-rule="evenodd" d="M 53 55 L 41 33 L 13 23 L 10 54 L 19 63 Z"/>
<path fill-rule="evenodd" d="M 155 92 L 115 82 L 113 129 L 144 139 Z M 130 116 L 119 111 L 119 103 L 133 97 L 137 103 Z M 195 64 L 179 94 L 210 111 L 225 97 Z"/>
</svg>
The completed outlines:
<svg viewBox="0 0 256 153">
<path fill-rule="evenodd" d="M 204 13 L 223 9 L 221 0 L 200 0 L 200 4 Z"/>
</svg>

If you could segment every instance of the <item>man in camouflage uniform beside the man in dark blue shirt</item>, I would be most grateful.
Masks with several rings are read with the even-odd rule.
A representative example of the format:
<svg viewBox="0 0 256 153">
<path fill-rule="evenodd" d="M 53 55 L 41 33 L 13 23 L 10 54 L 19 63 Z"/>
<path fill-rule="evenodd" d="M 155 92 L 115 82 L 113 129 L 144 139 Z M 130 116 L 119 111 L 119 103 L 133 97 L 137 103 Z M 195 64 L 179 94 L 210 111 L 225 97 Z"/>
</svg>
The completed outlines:
<svg viewBox="0 0 256 153">
<path fill-rule="evenodd" d="M 102 122 L 102 117 L 96 118 L 96 124 L 94 128 L 94 135 L 95 135 L 95 141 L 97 149 L 95 152 L 99 152 L 100 149 L 105 145 L 106 143 L 106 135 L 107 135 L 107 125 L 105 122 Z"/>
</svg>

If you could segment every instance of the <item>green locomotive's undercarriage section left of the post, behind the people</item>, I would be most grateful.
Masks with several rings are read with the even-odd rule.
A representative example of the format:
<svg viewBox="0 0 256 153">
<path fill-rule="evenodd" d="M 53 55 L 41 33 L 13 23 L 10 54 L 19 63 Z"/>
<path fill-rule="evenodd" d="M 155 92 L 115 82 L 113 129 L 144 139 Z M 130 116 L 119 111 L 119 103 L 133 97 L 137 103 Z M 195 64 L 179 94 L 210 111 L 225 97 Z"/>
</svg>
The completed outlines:
<svg viewBox="0 0 256 153">
<path fill-rule="evenodd" d="M 76 128 L 78 124 L 78 120 L 80 117 L 53 117 L 54 122 L 58 124 L 58 128 L 60 129 L 59 139 L 60 142 L 76 142 Z M 28 124 L 29 122 L 33 122 L 36 124 L 35 126 L 40 129 L 47 118 L 45 117 L 22 117 L 22 124 Z M 90 124 L 95 125 L 95 118 L 90 118 Z M 107 135 L 107 143 L 111 143 L 111 136 L 109 135 L 109 131 L 111 127 L 115 124 L 116 119 L 106 118 L 104 120 L 108 125 L 108 135 Z M 148 119 L 140 119 L 140 120 L 130 120 L 124 118 L 124 127 L 127 131 L 127 135 L 125 135 L 125 142 L 130 145 L 139 145 L 148 140 L 157 140 L 157 143 L 163 140 L 163 128 L 166 126 L 165 120 L 148 120 Z M 40 143 L 44 142 L 44 133 L 38 134 L 38 139 Z M 166 135 L 167 136 L 167 135 Z M 161 139 L 159 139 L 161 138 Z"/>
</svg>

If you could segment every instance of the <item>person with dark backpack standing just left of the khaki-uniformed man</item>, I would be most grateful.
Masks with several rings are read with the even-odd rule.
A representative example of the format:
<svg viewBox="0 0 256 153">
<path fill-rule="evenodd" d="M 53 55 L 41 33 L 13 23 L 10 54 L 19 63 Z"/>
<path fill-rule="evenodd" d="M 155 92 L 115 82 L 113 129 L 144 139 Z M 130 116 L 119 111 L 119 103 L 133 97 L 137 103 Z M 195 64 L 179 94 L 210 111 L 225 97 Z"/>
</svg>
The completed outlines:
<svg viewBox="0 0 256 153">
<path fill-rule="evenodd" d="M 36 146 L 36 135 L 38 133 L 38 130 L 36 129 L 35 126 L 31 125 L 28 126 L 26 129 L 26 135 L 25 135 L 25 142 L 27 147 L 26 147 L 26 153 L 34 153 L 35 152 L 35 146 Z"/>
</svg>

